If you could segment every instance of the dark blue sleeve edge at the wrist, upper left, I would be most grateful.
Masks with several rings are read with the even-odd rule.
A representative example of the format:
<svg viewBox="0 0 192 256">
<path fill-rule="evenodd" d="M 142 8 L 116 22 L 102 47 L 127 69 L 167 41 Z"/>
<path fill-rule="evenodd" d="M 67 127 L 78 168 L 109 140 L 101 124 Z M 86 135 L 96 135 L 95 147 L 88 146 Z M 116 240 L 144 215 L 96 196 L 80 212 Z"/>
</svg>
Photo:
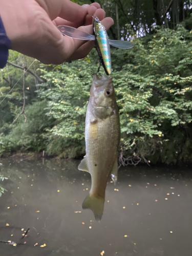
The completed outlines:
<svg viewBox="0 0 192 256">
<path fill-rule="evenodd" d="M 6 35 L 6 31 L 0 16 L 0 68 L 4 68 L 8 59 L 8 49 L 11 49 L 11 41 Z"/>
</svg>

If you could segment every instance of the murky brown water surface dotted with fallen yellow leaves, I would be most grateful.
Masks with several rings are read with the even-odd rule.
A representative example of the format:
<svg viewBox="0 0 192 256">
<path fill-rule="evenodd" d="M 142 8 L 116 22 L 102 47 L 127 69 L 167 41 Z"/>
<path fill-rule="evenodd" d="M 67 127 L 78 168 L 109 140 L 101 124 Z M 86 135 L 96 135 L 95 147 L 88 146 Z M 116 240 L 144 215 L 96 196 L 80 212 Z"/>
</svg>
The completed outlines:
<svg viewBox="0 0 192 256">
<path fill-rule="evenodd" d="M 1 162 L 9 180 L 2 183 L 0 240 L 19 243 L 0 243 L 1 256 L 191 256 L 187 167 L 121 168 L 118 184 L 108 182 L 98 223 L 81 209 L 91 178 L 77 170 L 79 161 Z"/>
</svg>

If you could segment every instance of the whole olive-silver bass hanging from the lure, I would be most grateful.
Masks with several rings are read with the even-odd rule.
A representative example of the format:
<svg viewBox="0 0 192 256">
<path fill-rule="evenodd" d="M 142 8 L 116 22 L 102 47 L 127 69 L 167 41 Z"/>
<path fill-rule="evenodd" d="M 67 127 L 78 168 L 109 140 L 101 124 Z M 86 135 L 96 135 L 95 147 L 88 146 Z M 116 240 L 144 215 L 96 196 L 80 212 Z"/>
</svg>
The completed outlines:
<svg viewBox="0 0 192 256">
<path fill-rule="evenodd" d="M 112 77 L 93 76 L 85 127 L 86 156 L 79 170 L 91 175 L 91 189 L 82 203 L 95 220 L 103 214 L 105 188 L 111 176 L 117 182 L 120 123 Z"/>
</svg>

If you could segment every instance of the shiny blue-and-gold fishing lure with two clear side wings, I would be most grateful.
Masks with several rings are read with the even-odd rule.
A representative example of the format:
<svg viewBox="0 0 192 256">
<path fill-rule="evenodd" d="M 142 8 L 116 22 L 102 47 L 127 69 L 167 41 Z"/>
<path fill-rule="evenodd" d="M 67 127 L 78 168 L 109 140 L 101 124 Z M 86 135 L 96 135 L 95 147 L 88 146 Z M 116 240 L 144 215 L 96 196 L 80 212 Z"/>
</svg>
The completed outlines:
<svg viewBox="0 0 192 256">
<path fill-rule="evenodd" d="M 83 32 L 79 29 L 69 27 L 69 26 L 58 26 L 57 28 L 63 35 L 72 37 L 74 39 L 80 40 L 94 40 L 95 46 L 100 58 L 100 63 L 104 68 L 106 75 L 111 75 L 112 73 L 112 65 L 111 65 L 111 53 L 110 53 L 110 45 L 121 48 L 121 49 L 130 49 L 134 47 L 133 43 L 130 41 L 122 41 L 122 40 L 111 40 L 109 39 L 108 33 L 106 33 L 105 27 L 102 25 L 97 16 L 93 15 L 93 33 L 91 35 L 89 33 Z M 100 68 L 100 65 L 99 65 Z M 99 68 L 98 71 L 99 72 Z"/>
</svg>

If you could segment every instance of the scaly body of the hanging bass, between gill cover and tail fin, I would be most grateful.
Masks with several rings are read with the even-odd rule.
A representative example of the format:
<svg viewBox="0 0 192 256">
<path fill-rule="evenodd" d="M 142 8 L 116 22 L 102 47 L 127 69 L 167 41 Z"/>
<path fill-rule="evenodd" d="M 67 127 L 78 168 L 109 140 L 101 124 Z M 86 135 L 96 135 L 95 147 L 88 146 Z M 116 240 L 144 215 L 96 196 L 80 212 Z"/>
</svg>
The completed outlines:
<svg viewBox="0 0 192 256">
<path fill-rule="evenodd" d="M 117 159 L 119 140 L 119 120 L 115 115 L 90 123 L 88 112 L 86 120 L 86 155 L 92 178 L 90 194 L 104 197 L 106 182 Z M 95 127 L 97 125 L 97 127 Z M 107 131 L 107 132 L 106 132 Z M 109 148 L 106 151 L 106 148 Z"/>
</svg>

